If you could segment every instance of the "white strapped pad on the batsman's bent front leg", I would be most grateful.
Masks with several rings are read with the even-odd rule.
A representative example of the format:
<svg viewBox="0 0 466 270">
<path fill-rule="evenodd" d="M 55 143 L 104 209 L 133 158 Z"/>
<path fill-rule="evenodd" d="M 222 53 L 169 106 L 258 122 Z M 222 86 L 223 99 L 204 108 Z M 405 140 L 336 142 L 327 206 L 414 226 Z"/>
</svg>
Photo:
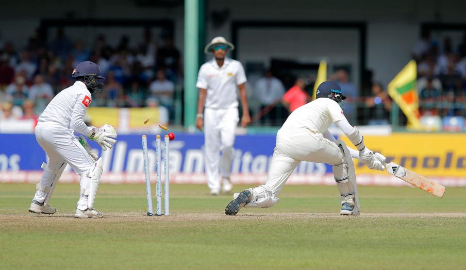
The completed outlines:
<svg viewBox="0 0 466 270">
<path fill-rule="evenodd" d="M 340 151 L 343 153 L 342 163 L 332 166 L 336 186 L 340 191 L 341 203 L 356 205 L 359 209 L 358 186 L 356 183 L 353 159 L 345 142 L 337 140 L 335 143 L 340 147 Z"/>
</svg>

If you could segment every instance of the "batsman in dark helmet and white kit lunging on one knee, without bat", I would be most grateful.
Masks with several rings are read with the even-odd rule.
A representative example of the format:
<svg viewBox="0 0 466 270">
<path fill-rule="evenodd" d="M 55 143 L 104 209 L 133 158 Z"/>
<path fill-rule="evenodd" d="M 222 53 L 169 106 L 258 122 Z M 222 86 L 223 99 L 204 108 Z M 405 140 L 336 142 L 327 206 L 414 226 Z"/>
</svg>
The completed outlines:
<svg viewBox="0 0 466 270">
<path fill-rule="evenodd" d="M 273 206 L 276 196 L 301 161 L 333 165 L 333 175 L 340 191 L 341 215 L 359 215 L 359 198 L 353 158 L 359 158 L 370 169 L 384 170 L 381 161 L 364 144 L 363 136 L 352 127 L 340 106 L 345 97 L 340 86 L 331 81 L 319 85 L 316 100 L 291 113 L 277 133 L 276 146 L 265 185 L 233 195 L 225 214 L 236 215 L 243 207 Z M 335 123 L 359 150 L 348 148 L 328 131 Z"/>
</svg>

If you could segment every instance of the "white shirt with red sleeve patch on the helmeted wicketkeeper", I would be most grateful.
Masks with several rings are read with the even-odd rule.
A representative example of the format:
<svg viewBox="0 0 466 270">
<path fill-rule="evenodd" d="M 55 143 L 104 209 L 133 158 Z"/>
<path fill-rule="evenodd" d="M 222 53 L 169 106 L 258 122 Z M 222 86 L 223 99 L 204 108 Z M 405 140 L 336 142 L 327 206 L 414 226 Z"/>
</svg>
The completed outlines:
<svg viewBox="0 0 466 270">
<path fill-rule="evenodd" d="M 91 129 L 84 124 L 84 115 L 91 103 L 91 93 L 83 82 L 76 81 L 63 89 L 39 116 L 39 122 L 57 123 L 65 129 L 89 135 Z"/>
</svg>

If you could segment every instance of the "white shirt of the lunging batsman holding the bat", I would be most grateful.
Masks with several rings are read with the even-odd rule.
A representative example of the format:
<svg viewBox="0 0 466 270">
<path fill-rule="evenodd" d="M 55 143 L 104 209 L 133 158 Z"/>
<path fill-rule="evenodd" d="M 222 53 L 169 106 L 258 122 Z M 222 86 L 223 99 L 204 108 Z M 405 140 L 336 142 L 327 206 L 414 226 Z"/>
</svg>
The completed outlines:
<svg viewBox="0 0 466 270">
<path fill-rule="evenodd" d="M 329 98 L 318 98 L 294 110 L 280 131 L 291 132 L 307 129 L 312 133 L 323 134 L 332 122 L 343 119 L 346 120 L 346 117 L 336 101 Z"/>
</svg>

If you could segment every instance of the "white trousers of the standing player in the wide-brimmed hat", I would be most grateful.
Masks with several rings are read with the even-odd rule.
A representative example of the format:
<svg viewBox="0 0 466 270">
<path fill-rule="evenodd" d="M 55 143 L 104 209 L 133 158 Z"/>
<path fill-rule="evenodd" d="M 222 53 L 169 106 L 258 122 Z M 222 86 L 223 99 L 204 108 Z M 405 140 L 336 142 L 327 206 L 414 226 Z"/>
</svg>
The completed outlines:
<svg viewBox="0 0 466 270">
<path fill-rule="evenodd" d="M 204 161 L 207 186 L 218 190 L 222 177 L 230 177 L 233 159 L 234 130 L 238 124 L 238 108 L 204 109 Z M 220 157 L 220 151 L 222 155 Z"/>
</svg>

